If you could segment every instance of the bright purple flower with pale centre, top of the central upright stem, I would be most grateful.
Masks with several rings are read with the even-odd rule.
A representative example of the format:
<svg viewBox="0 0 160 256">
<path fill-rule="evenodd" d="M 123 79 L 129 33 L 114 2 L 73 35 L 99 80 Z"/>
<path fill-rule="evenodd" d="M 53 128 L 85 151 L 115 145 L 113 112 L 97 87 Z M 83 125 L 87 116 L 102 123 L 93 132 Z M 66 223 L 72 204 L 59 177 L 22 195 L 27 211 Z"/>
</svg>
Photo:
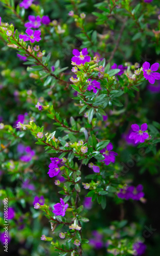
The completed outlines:
<svg viewBox="0 0 160 256">
<path fill-rule="evenodd" d="M 90 61 L 90 56 L 87 55 L 87 48 L 83 48 L 81 52 L 79 52 L 77 49 L 74 49 L 72 53 L 75 55 L 72 57 L 72 61 L 76 63 L 76 65 L 84 65 L 85 62 Z"/>
</svg>

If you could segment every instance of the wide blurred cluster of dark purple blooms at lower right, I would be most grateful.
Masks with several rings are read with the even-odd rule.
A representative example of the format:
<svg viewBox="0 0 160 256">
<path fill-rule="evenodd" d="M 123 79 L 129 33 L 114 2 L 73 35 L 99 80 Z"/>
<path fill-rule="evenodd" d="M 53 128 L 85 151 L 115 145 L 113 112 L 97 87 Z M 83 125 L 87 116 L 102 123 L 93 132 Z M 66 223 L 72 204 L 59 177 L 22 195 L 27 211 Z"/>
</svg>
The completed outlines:
<svg viewBox="0 0 160 256">
<path fill-rule="evenodd" d="M 134 186 L 126 186 L 124 189 L 120 189 L 120 193 L 118 193 L 118 197 L 122 199 L 133 199 L 133 200 L 140 200 L 144 197 L 143 186 L 139 184 L 137 187 Z"/>
</svg>

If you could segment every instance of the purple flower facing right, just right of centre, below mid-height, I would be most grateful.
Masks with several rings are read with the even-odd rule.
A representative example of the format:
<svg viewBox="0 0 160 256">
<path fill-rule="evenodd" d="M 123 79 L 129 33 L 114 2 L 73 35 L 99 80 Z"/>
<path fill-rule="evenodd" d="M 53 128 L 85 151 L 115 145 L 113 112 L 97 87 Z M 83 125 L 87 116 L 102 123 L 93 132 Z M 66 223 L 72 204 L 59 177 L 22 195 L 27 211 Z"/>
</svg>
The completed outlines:
<svg viewBox="0 0 160 256">
<path fill-rule="evenodd" d="M 106 165 L 112 163 L 115 163 L 115 156 L 118 156 L 118 154 L 116 152 L 111 151 L 113 149 L 113 145 L 112 143 L 109 143 L 106 146 L 106 150 L 105 148 L 103 148 L 103 150 L 100 151 L 100 153 L 104 153 L 103 156 L 105 157 L 105 159 L 103 160 L 105 162 Z"/>
</svg>

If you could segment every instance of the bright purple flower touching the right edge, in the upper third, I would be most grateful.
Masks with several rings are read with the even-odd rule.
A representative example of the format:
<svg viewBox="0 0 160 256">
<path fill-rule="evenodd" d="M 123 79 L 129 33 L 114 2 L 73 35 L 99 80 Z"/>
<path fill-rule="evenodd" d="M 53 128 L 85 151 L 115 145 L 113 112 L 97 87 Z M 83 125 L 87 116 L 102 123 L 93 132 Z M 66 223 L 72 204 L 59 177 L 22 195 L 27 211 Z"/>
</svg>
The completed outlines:
<svg viewBox="0 0 160 256">
<path fill-rule="evenodd" d="M 146 78 L 146 80 L 148 80 L 150 83 L 154 83 L 155 79 L 159 80 L 160 79 L 160 74 L 154 71 L 157 71 L 159 68 L 159 63 L 154 63 L 151 67 L 150 67 L 150 63 L 145 61 L 143 63 L 143 75 Z"/>
</svg>

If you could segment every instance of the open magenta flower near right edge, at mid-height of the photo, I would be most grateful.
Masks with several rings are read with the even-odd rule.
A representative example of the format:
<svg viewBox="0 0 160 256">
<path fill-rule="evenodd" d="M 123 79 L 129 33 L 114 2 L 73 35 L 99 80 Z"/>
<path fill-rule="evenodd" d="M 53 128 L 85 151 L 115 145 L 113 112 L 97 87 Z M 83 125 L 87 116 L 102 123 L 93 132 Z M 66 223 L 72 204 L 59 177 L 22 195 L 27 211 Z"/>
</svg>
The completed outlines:
<svg viewBox="0 0 160 256">
<path fill-rule="evenodd" d="M 149 138 L 149 135 L 148 133 L 145 133 L 145 131 L 147 130 L 147 123 L 143 123 L 141 125 L 141 130 L 140 130 L 140 126 L 138 124 L 132 124 L 131 125 L 131 128 L 134 132 L 132 132 L 130 135 L 129 135 L 129 139 L 134 139 L 135 143 L 138 143 L 138 142 L 145 142 L 146 139 Z"/>
</svg>

